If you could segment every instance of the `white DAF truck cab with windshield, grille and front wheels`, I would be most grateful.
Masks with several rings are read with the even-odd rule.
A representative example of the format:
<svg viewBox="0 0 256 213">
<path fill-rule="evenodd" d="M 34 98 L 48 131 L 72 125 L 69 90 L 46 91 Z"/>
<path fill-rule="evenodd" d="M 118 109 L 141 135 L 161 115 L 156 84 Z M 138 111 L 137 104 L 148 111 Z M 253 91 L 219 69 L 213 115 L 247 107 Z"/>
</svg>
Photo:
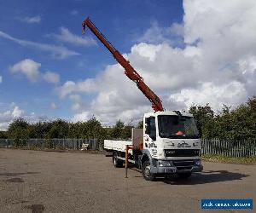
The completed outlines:
<svg viewBox="0 0 256 213">
<path fill-rule="evenodd" d="M 142 170 L 145 179 L 201 171 L 201 140 L 193 116 L 186 112 L 149 112 L 143 119 Z"/>
</svg>

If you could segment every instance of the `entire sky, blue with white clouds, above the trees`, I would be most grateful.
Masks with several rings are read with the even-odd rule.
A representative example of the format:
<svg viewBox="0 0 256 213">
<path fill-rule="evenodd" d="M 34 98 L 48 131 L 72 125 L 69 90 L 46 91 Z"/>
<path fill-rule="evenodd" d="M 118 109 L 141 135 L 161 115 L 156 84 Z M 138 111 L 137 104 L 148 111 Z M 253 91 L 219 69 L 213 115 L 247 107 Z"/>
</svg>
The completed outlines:
<svg viewBox="0 0 256 213">
<path fill-rule="evenodd" d="M 0 0 L 0 130 L 17 116 L 77 121 L 96 115 L 113 124 L 150 111 L 102 43 L 90 31 L 81 35 L 87 16 L 140 70 L 166 109 L 246 101 L 255 90 L 255 42 L 247 32 L 255 4 L 247 4 Z M 247 37 L 233 30 L 238 20 Z"/>
</svg>

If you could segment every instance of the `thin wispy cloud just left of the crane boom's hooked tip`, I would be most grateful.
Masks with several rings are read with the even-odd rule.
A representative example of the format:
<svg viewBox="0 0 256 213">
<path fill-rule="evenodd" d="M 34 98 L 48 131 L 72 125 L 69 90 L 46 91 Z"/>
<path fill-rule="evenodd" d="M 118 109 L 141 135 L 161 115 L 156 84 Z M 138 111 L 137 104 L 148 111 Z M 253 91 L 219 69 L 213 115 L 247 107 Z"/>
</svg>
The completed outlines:
<svg viewBox="0 0 256 213">
<path fill-rule="evenodd" d="M 82 37 L 74 35 L 66 27 L 61 26 L 61 34 L 51 34 L 49 36 L 55 37 L 58 41 L 64 43 L 72 43 L 74 45 L 91 46 L 96 45 L 96 41 L 92 37 Z"/>
</svg>

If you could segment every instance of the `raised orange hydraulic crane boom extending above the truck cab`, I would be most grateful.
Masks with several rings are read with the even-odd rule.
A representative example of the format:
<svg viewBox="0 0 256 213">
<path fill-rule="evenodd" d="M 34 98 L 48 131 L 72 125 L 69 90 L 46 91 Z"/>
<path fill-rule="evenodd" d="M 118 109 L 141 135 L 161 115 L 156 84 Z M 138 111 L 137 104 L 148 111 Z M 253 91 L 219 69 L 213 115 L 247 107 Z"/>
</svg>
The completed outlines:
<svg viewBox="0 0 256 213">
<path fill-rule="evenodd" d="M 112 53 L 115 60 L 117 60 L 119 64 L 125 68 L 125 75 L 137 84 L 137 88 L 140 89 L 152 103 L 154 112 L 164 111 L 160 98 L 155 95 L 151 89 L 148 88 L 146 83 L 143 82 L 143 78 L 130 65 L 130 62 L 125 60 L 123 55 L 121 55 L 118 50 L 114 49 L 113 45 L 108 42 L 107 38 L 103 36 L 103 34 L 96 28 L 96 26 L 90 21 L 89 18 L 84 20 L 82 23 L 83 33 L 85 32 L 85 26 L 90 28 L 90 31 L 93 32 L 96 37 L 104 44 L 104 46 Z"/>
</svg>

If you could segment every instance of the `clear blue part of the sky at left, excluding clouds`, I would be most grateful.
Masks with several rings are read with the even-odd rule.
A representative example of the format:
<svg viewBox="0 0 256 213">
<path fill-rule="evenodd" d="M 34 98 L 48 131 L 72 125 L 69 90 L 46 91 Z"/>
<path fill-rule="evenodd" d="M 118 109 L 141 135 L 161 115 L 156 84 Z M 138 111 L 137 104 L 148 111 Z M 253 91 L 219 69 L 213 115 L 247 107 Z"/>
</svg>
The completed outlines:
<svg viewBox="0 0 256 213">
<path fill-rule="evenodd" d="M 22 46 L 0 37 L 0 111 L 9 109 L 15 102 L 22 110 L 44 114 L 49 117 L 72 118 L 70 104 L 55 95 L 55 84 L 29 82 L 24 75 L 13 75 L 9 67 L 20 60 L 32 59 L 41 63 L 40 69 L 57 72 L 60 84 L 67 80 L 90 78 L 102 72 L 105 66 L 115 61 L 101 43 L 83 46 L 61 43 L 50 34 L 60 34 L 60 27 L 81 37 L 81 22 L 87 16 L 101 29 L 120 52 L 128 52 L 137 38 L 143 35 L 153 21 L 160 26 L 170 26 L 183 19 L 180 1 L 1 1 L 0 31 L 11 37 L 49 45 L 63 46 L 80 55 L 65 59 L 53 58 L 50 52 Z M 29 23 L 29 19 L 39 17 Z M 93 37 L 86 32 L 86 37 Z M 122 75 L 122 73 L 120 73 Z M 125 76 L 124 76 L 125 78 Z M 56 110 L 49 106 L 54 102 Z"/>
</svg>

